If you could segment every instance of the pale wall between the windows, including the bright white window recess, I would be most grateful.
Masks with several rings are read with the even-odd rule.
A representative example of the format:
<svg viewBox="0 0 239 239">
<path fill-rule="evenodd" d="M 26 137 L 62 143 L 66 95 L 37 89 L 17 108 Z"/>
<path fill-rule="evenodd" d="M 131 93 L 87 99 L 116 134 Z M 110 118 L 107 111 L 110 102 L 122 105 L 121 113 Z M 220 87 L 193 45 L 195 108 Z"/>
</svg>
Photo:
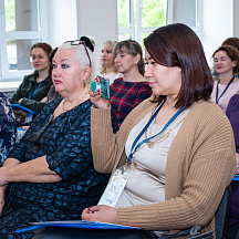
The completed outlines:
<svg viewBox="0 0 239 239">
<path fill-rule="evenodd" d="M 55 48 L 82 35 L 93 37 L 95 66 L 105 40 L 117 40 L 117 0 L 51 0 L 49 2 L 49 42 Z M 94 69 L 93 75 L 96 75 Z"/>
</svg>

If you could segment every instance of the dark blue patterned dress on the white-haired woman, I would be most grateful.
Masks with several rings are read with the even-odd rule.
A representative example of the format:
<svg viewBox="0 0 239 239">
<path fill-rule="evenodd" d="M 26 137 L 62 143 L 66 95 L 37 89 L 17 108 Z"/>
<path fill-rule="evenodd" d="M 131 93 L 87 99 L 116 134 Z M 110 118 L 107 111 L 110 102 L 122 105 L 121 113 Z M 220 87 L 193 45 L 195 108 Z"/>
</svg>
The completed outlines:
<svg viewBox="0 0 239 239">
<path fill-rule="evenodd" d="M 107 184 L 110 175 L 93 167 L 91 101 L 51 122 L 60 102 L 53 101 L 41 111 L 9 156 L 23 163 L 46 155 L 49 168 L 62 181 L 8 186 L 6 200 L 13 209 L 0 219 L 0 238 L 31 238 L 27 233 L 12 235 L 15 229 L 29 227 L 29 221 L 81 219 L 82 210 L 97 204 Z M 117 123 L 114 125 L 116 128 Z"/>
</svg>

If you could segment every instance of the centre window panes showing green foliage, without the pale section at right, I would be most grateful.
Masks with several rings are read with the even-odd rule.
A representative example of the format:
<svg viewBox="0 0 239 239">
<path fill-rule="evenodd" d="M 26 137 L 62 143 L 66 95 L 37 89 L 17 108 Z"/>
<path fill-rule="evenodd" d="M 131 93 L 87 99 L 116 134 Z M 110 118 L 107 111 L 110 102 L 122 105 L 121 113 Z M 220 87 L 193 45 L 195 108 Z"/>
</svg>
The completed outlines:
<svg viewBox="0 0 239 239">
<path fill-rule="evenodd" d="M 166 24 L 167 0 L 117 0 L 118 40 L 142 43 L 153 30 Z"/>
</svg>

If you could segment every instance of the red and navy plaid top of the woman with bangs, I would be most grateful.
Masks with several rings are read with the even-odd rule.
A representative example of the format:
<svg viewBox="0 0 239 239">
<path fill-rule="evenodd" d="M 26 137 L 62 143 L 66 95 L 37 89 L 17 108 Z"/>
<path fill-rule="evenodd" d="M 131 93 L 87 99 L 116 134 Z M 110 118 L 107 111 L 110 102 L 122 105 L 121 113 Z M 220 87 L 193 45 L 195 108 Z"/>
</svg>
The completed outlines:
<svg viewBox="0 0 239 239">
<path fill-rule="evenodd" d="M 122 77 L 116 79 L 110 90 L 110 103 L 119 125 L 134 107 L 152 95 L 152 89 L 147 82 L 125 82 Z"/>
</svg>

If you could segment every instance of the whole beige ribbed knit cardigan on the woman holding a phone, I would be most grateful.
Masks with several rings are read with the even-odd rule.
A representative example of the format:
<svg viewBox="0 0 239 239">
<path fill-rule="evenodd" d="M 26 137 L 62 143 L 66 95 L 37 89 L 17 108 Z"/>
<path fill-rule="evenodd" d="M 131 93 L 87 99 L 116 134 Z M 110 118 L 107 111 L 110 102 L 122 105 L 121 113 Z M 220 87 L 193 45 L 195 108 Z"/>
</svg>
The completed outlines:
<svg viewBox="0 0 239 239">
<path fill-rule="evenodd" d="M 155 103 L 145 100 L 112 133 L 110 107 L 92 107 L 92 152 L 95 169 L 111 173 L 125 164 L 131 129 Z M 214 102 L 195 103 L 168 152 L 165 201 L 118 208 L 116 222 L 147 230 L 180 230 L 194 225 L 214 230 L 214 216 L 236 172 L 230 123 Z M 138 185 L 135 185 L 137 187 Z"/>
</svg>

